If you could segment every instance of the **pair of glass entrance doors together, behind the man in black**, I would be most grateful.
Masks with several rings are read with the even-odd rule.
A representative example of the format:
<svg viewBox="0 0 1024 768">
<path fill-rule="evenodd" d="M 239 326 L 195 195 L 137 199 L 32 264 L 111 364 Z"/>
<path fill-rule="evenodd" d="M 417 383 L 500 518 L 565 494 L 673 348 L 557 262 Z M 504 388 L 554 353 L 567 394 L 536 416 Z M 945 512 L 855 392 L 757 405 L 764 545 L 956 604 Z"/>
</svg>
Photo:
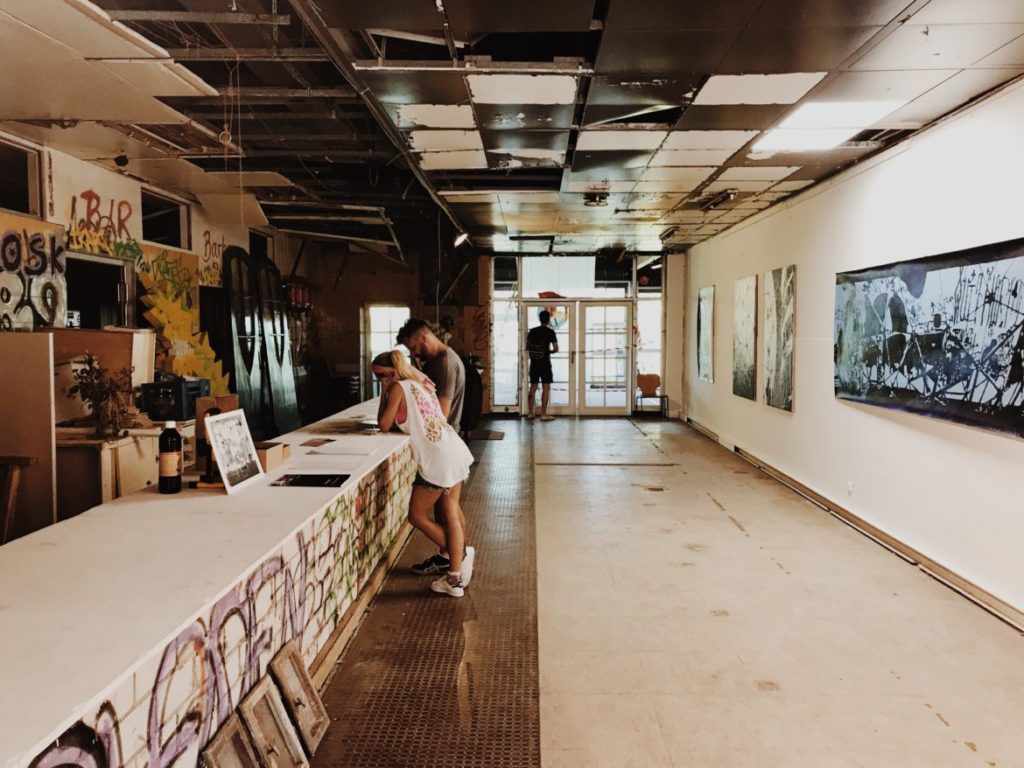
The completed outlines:
<svg viewBox="0 0 1024 768">
<path fill-rule="evenodd" d="M 526 334 L 551 313 L 558 353 L 548 413 L 553 416 L 629 416 L 632 406 L 632 304 L 628 301 L 547 299 L 522 302 L 519 324 L 521 413 L 528 410 Z M 538 402 L 541 394 L 538 392 Z"/>
</svg>

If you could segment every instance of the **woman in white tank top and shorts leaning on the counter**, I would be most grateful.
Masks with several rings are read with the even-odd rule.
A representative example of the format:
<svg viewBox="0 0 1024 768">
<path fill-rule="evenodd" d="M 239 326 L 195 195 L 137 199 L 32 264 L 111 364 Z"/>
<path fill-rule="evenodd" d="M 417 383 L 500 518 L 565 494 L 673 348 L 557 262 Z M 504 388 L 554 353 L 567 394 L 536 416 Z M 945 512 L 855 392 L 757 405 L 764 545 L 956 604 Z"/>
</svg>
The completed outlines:
<svg viewBox="0 0 1024 768">
<path fill-rule="evenodd" d="M 377 355 L 371 364 L 381 382 L 377 424 L 381 431 L 397 428 L 409 435 L 416 460 L 416 480 L 409 503 L 409 521 L 449 553 L 447 574 L 430 585 L 434 592 L 462 597 L 473 572 L 475 551 L 466 547 L 459 494 L 469 477 L 473 455 L 441 411 L 437 395 L 397 349 Z M 434 506 L 444 525 L 431 518 Z"/>
</svg>

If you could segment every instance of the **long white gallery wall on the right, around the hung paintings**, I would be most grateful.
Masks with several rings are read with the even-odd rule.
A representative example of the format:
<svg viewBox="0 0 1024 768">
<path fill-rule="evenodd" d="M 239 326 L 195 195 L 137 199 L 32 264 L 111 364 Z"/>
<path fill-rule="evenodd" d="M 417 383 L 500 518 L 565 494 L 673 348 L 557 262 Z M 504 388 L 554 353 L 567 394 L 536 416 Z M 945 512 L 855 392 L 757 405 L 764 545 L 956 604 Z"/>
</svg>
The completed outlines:
<svg viewBox="0 0 1024 768">
<path fill-rule="evenodd" d="M 670 271 L 670 291 L 686 295 L 690 418 L 1018 609 L 1024 440 L 837 400 L 833 316 L 837 272 L 1024 237 L 1022 126 L 1018 83 L 696 246 L 688 274 Z M 797 265 L 793 414 L 731 392 L 733 282 L 786 264 Z M 694 322 L 697 291 L 711 285 L 713 384 L 696 377 Z"/>
</svg>

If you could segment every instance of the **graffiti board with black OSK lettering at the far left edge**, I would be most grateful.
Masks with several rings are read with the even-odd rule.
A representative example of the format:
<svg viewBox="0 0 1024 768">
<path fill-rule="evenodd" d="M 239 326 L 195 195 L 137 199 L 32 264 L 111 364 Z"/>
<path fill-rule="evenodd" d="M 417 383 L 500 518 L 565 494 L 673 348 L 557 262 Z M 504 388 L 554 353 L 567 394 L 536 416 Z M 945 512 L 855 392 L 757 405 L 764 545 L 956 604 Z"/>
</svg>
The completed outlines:
<svg viewBox="0 0 1024 768">
<path fill-rule="evenodd" d="M 0 214 L 0 331 L 62 328 L 68 310 L 63 228 Z"/>
</svg>

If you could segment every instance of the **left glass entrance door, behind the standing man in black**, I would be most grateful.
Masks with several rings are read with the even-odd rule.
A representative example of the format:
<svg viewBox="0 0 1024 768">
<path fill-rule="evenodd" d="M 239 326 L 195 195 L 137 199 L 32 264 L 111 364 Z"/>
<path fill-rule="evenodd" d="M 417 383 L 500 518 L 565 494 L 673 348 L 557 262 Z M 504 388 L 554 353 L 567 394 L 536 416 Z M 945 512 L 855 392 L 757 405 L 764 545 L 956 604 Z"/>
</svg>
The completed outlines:
<svg viewBox="0 0 1024 768">
<path fill-rule="evenodd" d="M 558 339 L 558 353 L 551 355 L 551 370 L 554 381 L 551 385 L 551 399 L 548 413 L 552 416 L 573 416 L 575 414 L 575 302 L 526 301 L 522 304 L 522 322 L 519 325 L 519 371 L 522 396 L 519 398 L 520 413 L 528 413 L 529 397 L 529 355 L 526 352 L 526 334 L 529 329 L 541 325 L 541 311 L 551 312 L 551 328 Z M 537 392 L 536 412 L 541 413 L 541 389 Z"/>
</svg>

